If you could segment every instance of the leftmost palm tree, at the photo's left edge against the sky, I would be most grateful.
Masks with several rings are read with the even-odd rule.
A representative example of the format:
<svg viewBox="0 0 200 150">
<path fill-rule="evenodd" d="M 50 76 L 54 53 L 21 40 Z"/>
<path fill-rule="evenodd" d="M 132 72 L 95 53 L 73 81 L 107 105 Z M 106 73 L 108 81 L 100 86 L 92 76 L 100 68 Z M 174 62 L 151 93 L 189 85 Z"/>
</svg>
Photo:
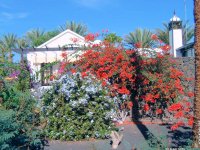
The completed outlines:
<svg viewBox="0 0 200 150">
<path fill-rule="evenodd" d="M 10 33 L 7 35 L 4 35 L 1 39 L 1 47 L 4 47 L 4 50 L 5 50 L 4 55 L 8 53 L 9 62 L 12 62 L 12 57 L 13 57 L 12 48 L 15 48 L 16 41 L 17 41 L 17 36 Z"/>
</svg>

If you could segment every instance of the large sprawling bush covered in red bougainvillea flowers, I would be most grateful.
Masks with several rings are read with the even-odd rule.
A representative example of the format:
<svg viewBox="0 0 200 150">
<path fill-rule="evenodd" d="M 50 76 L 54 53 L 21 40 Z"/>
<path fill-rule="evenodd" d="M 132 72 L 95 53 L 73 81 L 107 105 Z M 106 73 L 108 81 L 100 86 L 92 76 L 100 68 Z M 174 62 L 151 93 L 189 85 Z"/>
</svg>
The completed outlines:
<svg viewBox="0 0 200 150">
<path fill-rule="evenodd" d="M 94 41 L 97 36 L 98 34 L 88 34 L 85 40 Z M 152 40 L 158 43 L 160 52 L 155 52 L 152 48 L 150 52 L 141 54 L 137 49 L 127 50 L 102 41 L 97 46 L 90 46 L 70 71 L 81 71 L 82 77 L 87 76 L 87 72 L 92 73 L 102 81 L 103 86 L 110 88 L 112 96 L 131 96 L 131 103 L 126 104 L 129 109 L 138 106 L 139 110 L 143 110 L 139 112 L 144 113 L 141 116 L 173 116 L 172 130 L 185 124 L 192 125 L 193 117 L 188 99 L 194 94 L 186 91 L 182 84 L 183 80 L 191 81 L 191 78 L 185 78 L 183 72 L 174 67 L 176 61 L 169 55 L 169 45 L 162 43 L 156 35 L 152 35 Z M 140 48 L 140 45 L 141 43 L 136 43 L 135 47 Z M 67 56 L 63 54 L 63 57 Z M 65 70 L 66 65 L 66 62 L 61 63 L 60 73 Z M 185 123 L 184 120 L 188 122 Z"/>
</svg>

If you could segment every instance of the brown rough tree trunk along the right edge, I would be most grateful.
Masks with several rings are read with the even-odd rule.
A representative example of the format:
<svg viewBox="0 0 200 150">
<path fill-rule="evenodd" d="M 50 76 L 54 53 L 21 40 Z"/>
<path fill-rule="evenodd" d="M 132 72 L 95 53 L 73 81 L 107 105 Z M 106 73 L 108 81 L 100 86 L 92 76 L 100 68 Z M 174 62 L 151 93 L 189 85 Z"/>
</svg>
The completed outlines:
<svg viewBox="0 0 200 150">
<path fill-rule="evenodd" d="M 194 0 L 195 18 L 195 98 L 193 147 L 200 148 L 200 0 Z"/>
</svg>

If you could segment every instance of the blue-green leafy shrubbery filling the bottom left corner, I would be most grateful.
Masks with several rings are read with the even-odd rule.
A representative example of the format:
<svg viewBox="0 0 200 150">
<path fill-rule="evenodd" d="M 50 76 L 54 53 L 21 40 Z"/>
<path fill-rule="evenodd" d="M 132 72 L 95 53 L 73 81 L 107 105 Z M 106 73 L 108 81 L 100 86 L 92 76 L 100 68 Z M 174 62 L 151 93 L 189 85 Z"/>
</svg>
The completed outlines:
<svg viewBox="0 0 200 150">
<path fill-rule="evenodd" d="M 42 148 L 36 101 L 17 83 L 0 80 L 0 149 Z"/>
</svg>

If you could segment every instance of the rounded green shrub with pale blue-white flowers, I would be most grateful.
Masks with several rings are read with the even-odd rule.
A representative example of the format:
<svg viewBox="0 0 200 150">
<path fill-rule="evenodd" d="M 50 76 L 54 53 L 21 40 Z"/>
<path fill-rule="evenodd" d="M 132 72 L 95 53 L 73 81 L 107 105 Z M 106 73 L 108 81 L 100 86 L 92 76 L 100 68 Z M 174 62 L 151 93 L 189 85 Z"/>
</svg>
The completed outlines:
<svg viewBox="0 0 200 150">
<path fill-rule="evenodd" d="M 105 138 L 113 130 L 117 100 L 108 96 L 108 91 L 89 74 L 63 75 L 43 96 L 46 135 L 61 140 Z"/>
</svg>

